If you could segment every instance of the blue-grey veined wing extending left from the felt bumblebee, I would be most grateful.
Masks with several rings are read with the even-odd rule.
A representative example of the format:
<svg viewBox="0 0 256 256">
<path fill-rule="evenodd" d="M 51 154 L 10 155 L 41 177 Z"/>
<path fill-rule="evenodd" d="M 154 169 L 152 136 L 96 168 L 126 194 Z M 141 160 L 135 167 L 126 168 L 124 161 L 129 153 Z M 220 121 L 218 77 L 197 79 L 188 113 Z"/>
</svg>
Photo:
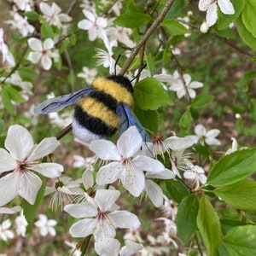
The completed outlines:
<svg viewBox="0 0 256 256">
<path fill-rule="evenodd" d="M 79 100 L 84 96 L 89 96 L 93 90 L 94 90 L 93 87 L 88 87 L 88 88 L 83 88 L 81 90 L 75 91 L 71 94 L 48 99 L 40 103 L 35 108 L 35 113 L 42 114 L 42 113 L 58 112 L 64 108 L 67 108 L 68 106 L 71 106 L 79 102 Z"/>
</svg>

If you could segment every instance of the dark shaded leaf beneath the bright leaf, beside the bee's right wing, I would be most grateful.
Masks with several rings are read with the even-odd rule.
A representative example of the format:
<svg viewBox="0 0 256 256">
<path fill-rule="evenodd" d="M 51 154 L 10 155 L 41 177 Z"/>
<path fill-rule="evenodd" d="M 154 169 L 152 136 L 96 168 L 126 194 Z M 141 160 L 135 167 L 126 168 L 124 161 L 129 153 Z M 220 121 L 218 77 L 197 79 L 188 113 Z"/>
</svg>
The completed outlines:
<svg viewBox="0 0 256 256">
<path fill-rule="evenodd" d="M 158 113 L 155 110 L 141 110 L 140 108 L 133 108 L 133 110 L 146 131 L 157 132 Z"/>
</svg>

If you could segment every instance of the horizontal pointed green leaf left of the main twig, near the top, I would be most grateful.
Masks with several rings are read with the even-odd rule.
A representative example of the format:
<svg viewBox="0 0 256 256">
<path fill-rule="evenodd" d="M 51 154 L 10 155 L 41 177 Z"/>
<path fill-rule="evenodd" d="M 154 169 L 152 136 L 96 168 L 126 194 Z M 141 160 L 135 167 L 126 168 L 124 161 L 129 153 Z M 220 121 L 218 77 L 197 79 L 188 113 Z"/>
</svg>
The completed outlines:
<svg viewBox="0 0 256 256">
<path fill-rule="evenodd" d="M 119 15 L 113 23 L 117 26 L 125 26 L 125 27 L 138 27 L 147 25 L 148 22 L 153 21 L 154 19 L 147 14 L 143 13 L 125 13 L 123 15 Z"/>
</svg>

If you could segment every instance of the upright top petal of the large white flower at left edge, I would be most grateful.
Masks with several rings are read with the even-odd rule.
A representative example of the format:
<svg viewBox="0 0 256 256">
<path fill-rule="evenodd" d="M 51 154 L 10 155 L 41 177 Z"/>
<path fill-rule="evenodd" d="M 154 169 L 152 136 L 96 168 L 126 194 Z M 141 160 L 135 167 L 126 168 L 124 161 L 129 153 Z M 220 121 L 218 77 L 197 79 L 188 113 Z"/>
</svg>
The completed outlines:
<svg viewBox="0 0 256 256">
<path fill-rule="evenodd" d="M 11 125 L 5 139 L 5 148 L 15 160 L 25 160 L 34 146 L 32 135 L 21 125 Z"/>
</svg>

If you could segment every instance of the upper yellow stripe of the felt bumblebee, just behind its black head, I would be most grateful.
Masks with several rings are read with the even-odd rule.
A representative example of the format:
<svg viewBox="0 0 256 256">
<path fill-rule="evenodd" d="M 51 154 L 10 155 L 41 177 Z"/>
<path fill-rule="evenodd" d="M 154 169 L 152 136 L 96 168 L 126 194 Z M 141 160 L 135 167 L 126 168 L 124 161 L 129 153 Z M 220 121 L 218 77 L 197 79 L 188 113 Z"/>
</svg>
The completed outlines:
<svg viewBox="0 0 256 256">
<path fill-rule="evenodd" d="M 102 90 L 108 93 L 109 95 L 113 96 L 113 98 L 116 99 L 117 102 L 125 103 L 131 108 L 133 102 L 132 95 L 128 90 L 126 90 L 121 85 L 113 82 L 110 79 L 99 78 L 93 82 L 93 86 L 97 90 Z"/>
</svg>

